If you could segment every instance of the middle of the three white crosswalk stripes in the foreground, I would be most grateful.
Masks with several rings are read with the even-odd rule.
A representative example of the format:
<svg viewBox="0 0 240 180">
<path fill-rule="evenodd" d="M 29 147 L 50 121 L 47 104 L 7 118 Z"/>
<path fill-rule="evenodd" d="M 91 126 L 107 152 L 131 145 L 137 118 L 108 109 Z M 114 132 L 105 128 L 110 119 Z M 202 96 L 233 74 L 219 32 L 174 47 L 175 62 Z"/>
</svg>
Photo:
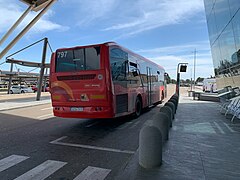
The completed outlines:
<svg viewBox="0 0 240 180">
<path fill-rule="evenodd" d="M 15 180 L 43 180 L 66 164 L 66 162 L 47 160 Z"/>
</svg>

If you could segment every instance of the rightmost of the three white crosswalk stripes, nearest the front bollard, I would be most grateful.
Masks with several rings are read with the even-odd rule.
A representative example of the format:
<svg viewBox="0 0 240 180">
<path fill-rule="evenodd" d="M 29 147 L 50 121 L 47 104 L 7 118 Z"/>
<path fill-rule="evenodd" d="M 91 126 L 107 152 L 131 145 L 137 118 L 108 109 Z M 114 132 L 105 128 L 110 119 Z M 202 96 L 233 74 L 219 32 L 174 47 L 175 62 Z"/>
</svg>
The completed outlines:
<svg viewBox="0 0 240 180">
<path fill-rule="evenodd" d="M 88 166 L 73 180 L 104 180 L 110 172 L 110 169 Z"/>
</svg>

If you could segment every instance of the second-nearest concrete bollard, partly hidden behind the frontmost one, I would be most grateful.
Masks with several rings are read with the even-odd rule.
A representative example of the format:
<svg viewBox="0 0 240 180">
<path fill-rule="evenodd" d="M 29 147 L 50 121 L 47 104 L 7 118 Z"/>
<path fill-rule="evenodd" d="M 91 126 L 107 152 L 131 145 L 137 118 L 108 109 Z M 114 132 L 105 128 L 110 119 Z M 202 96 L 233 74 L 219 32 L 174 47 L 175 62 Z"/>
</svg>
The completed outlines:
<svg viewBox="0 0 240 180">
<path fill-rule="evenodd" d="M 169 124 L 170 124 L 170 121 L 168 119 L 168 116 L 165 113 L 159 112 L 154 116 L 152 125 L 156 126 L 161 131 L 162 142 L 165 142 L 168 140 Z"/>
</svg>

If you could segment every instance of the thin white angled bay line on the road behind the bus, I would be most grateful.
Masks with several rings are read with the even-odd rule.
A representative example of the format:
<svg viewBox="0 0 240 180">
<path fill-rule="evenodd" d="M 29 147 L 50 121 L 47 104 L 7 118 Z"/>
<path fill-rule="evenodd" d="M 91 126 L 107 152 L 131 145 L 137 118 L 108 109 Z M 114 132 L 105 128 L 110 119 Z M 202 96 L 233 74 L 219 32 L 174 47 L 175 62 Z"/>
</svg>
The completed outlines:
<svg viewBox="0 0 240 180">
<path fill-rule="evenodd" d="M 85 149 L 93 149 L 93 150 L 100 150 L 100 151 L 109 151 L 109 152 L 116 152 L 116 153 L 125 153 L 125 154 L 134 154 L 134 151 L 129 150 L 121 150 L 121 149 L 113 149 L 113 148 L 105 148 L 105 147 L 99 147 L 99 146 L 90 146 L 90 145 L 84 145 L 84 144 L 73 144 L 73 143 L 65 143 L 60 142 L 63 139 L 66 139 L 67 136 L 60 137 L 54 141 L 51 141 L 51 144 L 57 144 L 57 145 L 63 145 L 63 146 L 71 146 L 71 147 L 78 147 L 78 148 L 85 148 Z"/>
</svg>

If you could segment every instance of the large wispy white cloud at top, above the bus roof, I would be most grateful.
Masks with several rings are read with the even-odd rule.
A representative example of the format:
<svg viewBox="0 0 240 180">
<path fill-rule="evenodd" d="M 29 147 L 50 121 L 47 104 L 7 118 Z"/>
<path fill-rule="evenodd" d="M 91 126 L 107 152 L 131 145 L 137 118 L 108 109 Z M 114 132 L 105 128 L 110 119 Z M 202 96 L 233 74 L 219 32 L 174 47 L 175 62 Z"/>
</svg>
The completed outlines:
<svg viewBox="0 0 240 180">
<path fill-rule="evenodd" d="M 62 0 L 77 9 L 81 27 L 101 24 L 103 31 L 119 31 L 115 39 L 162 26 L 180 24 L 204 11 L 202 0 Z M 205 19 L 205 17 L 202 17 Z M 201 19 L 201 18 L 200 18 Z"/>
</svg>

